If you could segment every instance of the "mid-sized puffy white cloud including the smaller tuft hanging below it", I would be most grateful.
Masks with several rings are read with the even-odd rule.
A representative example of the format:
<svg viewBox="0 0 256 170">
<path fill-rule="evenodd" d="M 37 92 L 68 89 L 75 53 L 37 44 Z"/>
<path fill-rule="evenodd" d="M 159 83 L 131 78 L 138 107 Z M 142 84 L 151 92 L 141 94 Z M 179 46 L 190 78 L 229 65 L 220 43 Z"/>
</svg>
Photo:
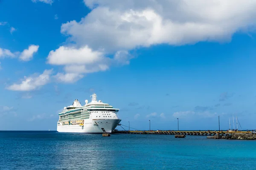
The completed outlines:
<svg viewBox="0 0 256 170">
<path fill-rule="evenodd" d="M 81 79 L 81 73 L 106 71 L 111 65 L 111 59 L 104 57 L 100 51 L 93 51 L 87 45 L 81 48 L 61 46 L 50 51 L 47 62 L 52 65 L 63 65 L 65 74 L 58 73 L 55 78 L 60 82 L 76 82 Z"/>
</svg>

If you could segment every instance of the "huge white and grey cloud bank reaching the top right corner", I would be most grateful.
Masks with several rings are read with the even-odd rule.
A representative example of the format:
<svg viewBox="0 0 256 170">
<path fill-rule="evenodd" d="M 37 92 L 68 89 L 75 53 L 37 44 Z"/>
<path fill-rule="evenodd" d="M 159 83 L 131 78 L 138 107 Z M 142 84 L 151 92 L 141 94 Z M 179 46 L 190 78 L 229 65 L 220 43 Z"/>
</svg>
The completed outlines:
<svg viewBox="0 0 256 170">
<path fill-rule="evenodd" d="M 92 11 L 62 24 L 61 32 L 79 45 L 108 52 L 157 44 L 185 45 L 230 41 L 256 24 L 256 1 L 243 0 L 84 0 Z M 102 15 L 104 14 L 104 15 Z"/>
</svg>

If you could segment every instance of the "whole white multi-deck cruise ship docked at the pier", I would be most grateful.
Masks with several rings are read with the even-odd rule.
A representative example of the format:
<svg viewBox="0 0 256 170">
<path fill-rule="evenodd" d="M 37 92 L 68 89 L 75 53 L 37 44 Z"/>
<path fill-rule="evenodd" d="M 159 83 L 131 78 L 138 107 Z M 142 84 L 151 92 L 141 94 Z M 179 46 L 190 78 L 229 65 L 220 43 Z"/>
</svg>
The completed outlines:
<svg viewBox="0 0 256 170">
<path fill-rule="evenodd" d="M 113 108 L 101 100 L 97 101 L 97 95 L 91 95 L 91 102 L 85 100 L 85 105 L 76 99 L 73 105 L 64 107 L 59 113 L 57 122 L 58 132 L 69 133 L 112 133 L 121 122 L 117 112 L 119 109 Z"/>
</svg>

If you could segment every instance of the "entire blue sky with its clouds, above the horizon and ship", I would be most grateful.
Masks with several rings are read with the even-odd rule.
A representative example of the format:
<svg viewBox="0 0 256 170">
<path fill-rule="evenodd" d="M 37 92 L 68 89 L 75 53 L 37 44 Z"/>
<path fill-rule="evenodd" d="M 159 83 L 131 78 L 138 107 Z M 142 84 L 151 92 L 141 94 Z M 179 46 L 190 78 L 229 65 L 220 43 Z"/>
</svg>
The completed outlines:
<svg viewBox="0 0 256 170">
<path fill-rule="evenodd" d="M 141 130 L 255 129 L 256 2 L 229 3 L 0 0 L 0 130 L 93 92 Z"/>
</svg>

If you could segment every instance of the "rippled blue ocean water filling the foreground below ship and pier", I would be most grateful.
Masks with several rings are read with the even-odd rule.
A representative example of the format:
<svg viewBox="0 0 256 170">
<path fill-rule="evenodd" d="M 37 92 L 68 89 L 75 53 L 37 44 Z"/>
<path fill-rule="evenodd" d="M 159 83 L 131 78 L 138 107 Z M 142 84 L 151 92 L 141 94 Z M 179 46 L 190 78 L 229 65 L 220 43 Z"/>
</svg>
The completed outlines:
<svg viewBox="0 0 256 170">
<path fill-rule="evenodd" d="M 0 131 L 1 170 L 256 170 L 256 141 Z"/>
</svg>

